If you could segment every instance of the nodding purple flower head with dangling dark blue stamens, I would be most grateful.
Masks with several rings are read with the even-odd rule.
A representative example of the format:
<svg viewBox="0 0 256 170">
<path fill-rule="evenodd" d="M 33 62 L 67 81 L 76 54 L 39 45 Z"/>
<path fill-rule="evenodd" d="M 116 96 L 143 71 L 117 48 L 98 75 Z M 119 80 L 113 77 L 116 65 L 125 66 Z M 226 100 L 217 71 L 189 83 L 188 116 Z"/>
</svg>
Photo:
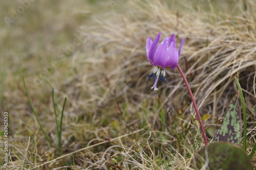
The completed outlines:
<svg viewBox="0 0 256 170">
<path fill-rule="evenodd" d="M 151 40 L 151 37 L 148 37 L 146 40 L 146 55 L 148 61 L 156 66 L 153 73 L 148 75 L 148 80 L 154 76 L 155 77 L 155 84 L 153 87 L 154 90 L 158 90 L 157 82 L 165 81 L 165 68 L 167 69 L 174 69 L 177 67 L 179 59 L 180 59 L 180 52 L 182 45 L 184 43 L 184 39 L 181 39 L 179 52 L 176 48 L 176 40 L 175 34 L 170 36 L 169 38 L 166 37 L 164 40 L 158 45 L 161 33 L 159 33 L 154 41 Z M 160 79 L 159 79 L 160 77 Z"/>
</svg>

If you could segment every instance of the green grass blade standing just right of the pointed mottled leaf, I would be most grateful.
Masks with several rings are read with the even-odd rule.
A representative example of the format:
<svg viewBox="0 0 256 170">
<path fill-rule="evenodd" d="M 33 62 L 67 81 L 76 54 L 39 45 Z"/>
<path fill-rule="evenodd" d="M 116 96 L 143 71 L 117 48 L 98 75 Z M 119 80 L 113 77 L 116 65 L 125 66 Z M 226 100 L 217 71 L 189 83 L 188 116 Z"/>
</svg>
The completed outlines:
<svg viewBox="0 0 256 170">
<path fill-rule="evenodd" d="M 243 96 L 243 92 L 242 92 L 242 88 L 239 84 L 239 81 L 236 77 L 234 77 L 234 79 L 236 80 L 237 86 L 238 86 L 238 91 L 240 92 L 240 100 L 241 100 L 241 105 L 242 105 L 242 111 L 243 111 L 243 119 L 244 119 L 244 138 L 243 138 L 243 148 L 244 150 L 246 150 L 246 134 L 247 134 L 247 120 L 246 120 L 246 107 L 245 107 L 245 103 L 244 103 L 244 96 Z"/>
</svg>

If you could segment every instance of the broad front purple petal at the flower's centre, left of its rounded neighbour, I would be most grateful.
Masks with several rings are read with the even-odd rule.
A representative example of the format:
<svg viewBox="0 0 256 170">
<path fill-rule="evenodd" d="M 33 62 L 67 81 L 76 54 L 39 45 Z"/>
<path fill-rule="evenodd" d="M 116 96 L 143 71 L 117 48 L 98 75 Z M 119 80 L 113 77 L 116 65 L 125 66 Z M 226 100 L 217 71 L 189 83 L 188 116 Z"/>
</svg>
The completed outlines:
<svg viewBox="0 0 256 170">
<path fill-rule="evenodd" d="M 169 55 L 168 46 L 168 38 L 166 37 L 157 48 L 156 54 L 153 59 L 155 66 L 160 66 L 163 69 L 165 68 L 167 56 Z"/>
</svg>

